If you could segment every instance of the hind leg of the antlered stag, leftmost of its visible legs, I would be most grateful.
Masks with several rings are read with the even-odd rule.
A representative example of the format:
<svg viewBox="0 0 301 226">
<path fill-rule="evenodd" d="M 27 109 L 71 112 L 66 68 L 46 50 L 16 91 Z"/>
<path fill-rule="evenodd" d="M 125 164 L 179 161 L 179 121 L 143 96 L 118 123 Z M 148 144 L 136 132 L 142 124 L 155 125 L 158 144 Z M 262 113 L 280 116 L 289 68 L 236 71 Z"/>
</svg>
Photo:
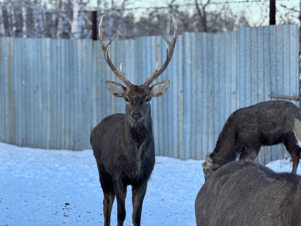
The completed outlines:
<svg viewBox="0 0 301 226">
<path fill-rule="evenodd" d="M 104 192 L 104 226 L 110 226 L 111 211 L 115 199 L 113 180 L 111 175 L 104 170 L 101 164 L 97 163 L 97 166 L 101 188 Z"/>
</svg>

